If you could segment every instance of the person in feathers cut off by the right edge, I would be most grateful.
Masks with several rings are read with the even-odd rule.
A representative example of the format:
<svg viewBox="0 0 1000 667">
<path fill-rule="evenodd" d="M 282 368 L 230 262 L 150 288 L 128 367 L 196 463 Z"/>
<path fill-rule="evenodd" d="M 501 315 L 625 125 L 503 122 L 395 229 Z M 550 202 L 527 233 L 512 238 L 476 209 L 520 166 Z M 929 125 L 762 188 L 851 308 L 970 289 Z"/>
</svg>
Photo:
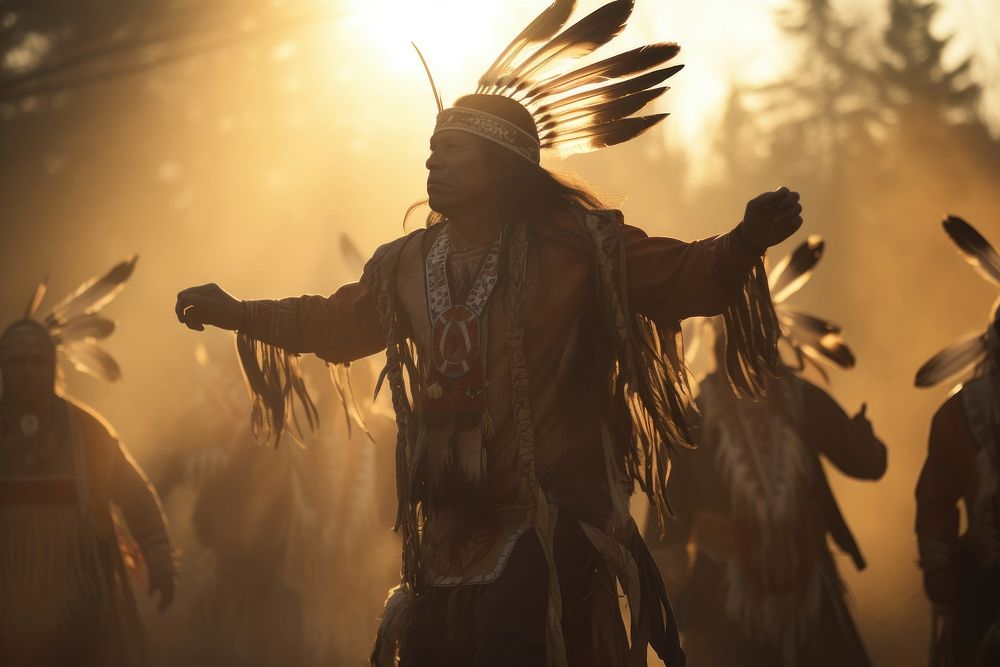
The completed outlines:
<svg viewBox="0 0 1000 667">
<path fill-rule="evenodd" d="M 956 216 L 944 230 L 962 257 L 1000 285 L 1000 256 Z M 952 377 L 955 387 L 931 421 L 927 459 L 917 481 L 917 547 L 932 605 L 931 664 L 1000 663 L 1000 300 L 985 331 L 934 355 L 918 387 Z M 960 533 L 958 505 L 967 528 Z"/>
</svg>

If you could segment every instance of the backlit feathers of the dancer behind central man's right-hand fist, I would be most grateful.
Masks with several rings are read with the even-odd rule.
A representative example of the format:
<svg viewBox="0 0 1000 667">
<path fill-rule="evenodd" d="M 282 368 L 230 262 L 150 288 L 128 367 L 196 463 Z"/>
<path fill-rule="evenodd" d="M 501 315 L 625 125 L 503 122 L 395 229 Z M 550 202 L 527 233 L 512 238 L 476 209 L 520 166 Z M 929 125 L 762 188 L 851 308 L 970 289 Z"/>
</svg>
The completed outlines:
<svg viewBox="0 0 1000 667">
<path fill-rule="evenodd" d="M 795 353 L 798 369 L 812 365 L 824 379 L 825 366 L 854 367 L 854 354 L 844 342 L 841 328 L 828 320 L 790 308 L 786 301 L 812 278 L 826 244 L 812 235 L 778 262 L 768 274 L 771 299 L 781 325 L 781 339 Z"/>
</svg>

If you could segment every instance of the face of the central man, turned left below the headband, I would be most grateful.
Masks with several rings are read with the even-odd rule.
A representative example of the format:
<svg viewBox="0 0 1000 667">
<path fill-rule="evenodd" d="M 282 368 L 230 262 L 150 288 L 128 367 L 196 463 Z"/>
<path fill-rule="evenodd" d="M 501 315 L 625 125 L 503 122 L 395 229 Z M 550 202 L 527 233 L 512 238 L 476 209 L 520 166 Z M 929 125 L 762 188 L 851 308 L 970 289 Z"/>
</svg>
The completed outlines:
<svg viewBox="0 0 1000 667">
<path fill-rule="evenodd" d="M 431 137 L 427 198 L 433 210 L 455 215 L 491 206 L 498 194 L 482 140 L 458 130 L 442 130 Z"/>
</svg>

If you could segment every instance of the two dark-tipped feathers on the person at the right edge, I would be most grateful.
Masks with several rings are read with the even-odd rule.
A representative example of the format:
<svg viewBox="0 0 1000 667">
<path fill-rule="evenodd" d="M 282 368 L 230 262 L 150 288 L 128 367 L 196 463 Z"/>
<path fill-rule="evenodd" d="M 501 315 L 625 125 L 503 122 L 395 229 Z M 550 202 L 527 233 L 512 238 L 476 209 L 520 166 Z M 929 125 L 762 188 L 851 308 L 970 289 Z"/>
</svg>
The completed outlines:
<svg viewBox="0 0 1000 667">
<path fill-rule="evenodd" d="M 958 254 L 972 265 L 984 280 L 1000 287 L 1000 255 L 976 228 L 962 218 L 949 215 L 941 223 Z M 988 358 L 994 339 L 1000 334 L 1000 300 L 993 306 L 992 324 L 982 333 L 967 336 L 928 359 L 917 371 L 917 387 L 933 387 L 981 366 Z"/>
</svg>

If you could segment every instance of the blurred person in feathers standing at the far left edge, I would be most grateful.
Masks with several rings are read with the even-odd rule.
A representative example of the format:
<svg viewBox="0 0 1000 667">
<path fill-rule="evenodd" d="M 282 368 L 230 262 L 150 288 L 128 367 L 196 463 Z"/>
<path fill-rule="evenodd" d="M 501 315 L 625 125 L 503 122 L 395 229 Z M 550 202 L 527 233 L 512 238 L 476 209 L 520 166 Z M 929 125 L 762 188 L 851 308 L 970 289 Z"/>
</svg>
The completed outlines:
<svg viewBox="0 0 1000 667">
<path fill-rule="evenodd" d="M 120 376 L 97 341 L 114 331 L 99 314 L 135 258 L 90 280 L 44 318 L 0 335 L 0 664 L 142 665 L 145 647 L 113 508 L 145 561 L 160 610 L 176 568 L 156 491 L 108 423 L 56 392 L 57 357 L 104 380 Z M 131 555 L 130 555 L 131 556 Z"/>
</svg>

